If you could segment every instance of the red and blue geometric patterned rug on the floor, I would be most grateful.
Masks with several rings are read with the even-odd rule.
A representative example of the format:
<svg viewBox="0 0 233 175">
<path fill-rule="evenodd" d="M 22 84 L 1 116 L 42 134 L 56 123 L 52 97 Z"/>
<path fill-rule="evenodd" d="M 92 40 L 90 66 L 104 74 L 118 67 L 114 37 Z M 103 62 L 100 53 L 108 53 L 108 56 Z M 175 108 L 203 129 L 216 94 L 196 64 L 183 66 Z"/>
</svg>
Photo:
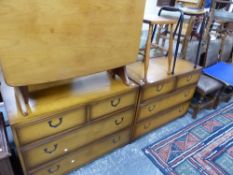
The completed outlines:
<svg viewBox="0 0 233 175">
<path fill-rule="evenodd" d="M 233 175 L 233 103 L 143 149 L 168 175 Z"/>
</svg>

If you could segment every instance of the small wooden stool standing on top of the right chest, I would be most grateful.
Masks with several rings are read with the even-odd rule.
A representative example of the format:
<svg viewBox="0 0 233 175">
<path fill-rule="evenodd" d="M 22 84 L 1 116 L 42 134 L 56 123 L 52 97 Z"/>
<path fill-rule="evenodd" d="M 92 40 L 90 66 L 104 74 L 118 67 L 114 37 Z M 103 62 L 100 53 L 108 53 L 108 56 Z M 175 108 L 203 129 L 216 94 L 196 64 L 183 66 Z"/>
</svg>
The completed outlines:
<svg viewBox="0 0 233 175">
<path fill-rule="evenodd" d="M 172 57 L 173 57 L 173 25 L 176 24 L 176 20 L 174 19 L 168 19 L 160 16 L 148 16 L 145 17 L 143 22 L 145 24 L 149 24 L 149 30 L 148 30 L 148 36 L 147 36 L 147 42 L 146 42 L 146 48 L 145 48 L 145 55 L 144 55 L 144 80 L 146 82 L 148 67 L 149 67 L 149 60 L 150 60 L 150 50 L 151 48 L 159 48 L 161 50 L 165 50 L 164 48 L 161 48 L 157 44 L 152 44 L 152 33 L 153 28 L 157 25 L 168 25 L 171 31 L 171 35 L 169 38 L 169 48 L 168 48 L 168 74 L 171 74 L 171 66 L 172 66 Z"/>
</svg>

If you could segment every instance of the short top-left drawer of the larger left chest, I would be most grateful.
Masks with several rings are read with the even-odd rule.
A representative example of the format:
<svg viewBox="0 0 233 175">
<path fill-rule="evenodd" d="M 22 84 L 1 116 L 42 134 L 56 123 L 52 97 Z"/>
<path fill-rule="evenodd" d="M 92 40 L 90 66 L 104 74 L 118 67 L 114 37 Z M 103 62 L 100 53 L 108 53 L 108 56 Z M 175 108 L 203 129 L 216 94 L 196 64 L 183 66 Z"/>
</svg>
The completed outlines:
<svg viewBox="0 0 233 175">
<path fill-rule="evenodd" d="M 85 108 L 57 114 L 50 118 L 19 125 L 16 128 L 20 145 L 62 132 L 85 122 Z"/>
</svg>

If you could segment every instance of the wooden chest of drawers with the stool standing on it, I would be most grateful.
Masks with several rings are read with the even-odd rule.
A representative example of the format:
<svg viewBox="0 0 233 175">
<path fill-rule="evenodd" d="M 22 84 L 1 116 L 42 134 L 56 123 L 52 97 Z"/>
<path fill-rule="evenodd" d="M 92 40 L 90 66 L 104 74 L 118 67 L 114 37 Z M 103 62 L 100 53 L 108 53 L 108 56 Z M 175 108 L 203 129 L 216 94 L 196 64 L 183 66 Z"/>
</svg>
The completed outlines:
<svg viewBox="0 0 233 175">
<path fill-rule="evenodd" d="M 131 80 L 140 86 L 133 138 L 184 115 L 193 97 L 201 69 L 185 60 L 177 60 L 174 75 L 167 74 L 165 58 L 150 59 L 147 82 L 144 64 L 127 67 Z"/>
</svg>

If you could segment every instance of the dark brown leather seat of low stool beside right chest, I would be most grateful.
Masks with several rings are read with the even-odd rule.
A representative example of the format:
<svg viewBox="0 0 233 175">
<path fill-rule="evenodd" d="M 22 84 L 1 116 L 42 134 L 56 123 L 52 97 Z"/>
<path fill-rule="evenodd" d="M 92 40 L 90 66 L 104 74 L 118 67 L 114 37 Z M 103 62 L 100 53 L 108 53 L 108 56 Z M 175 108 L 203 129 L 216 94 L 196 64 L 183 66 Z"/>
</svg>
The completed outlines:
<svg viewBox="0 0 233 175">
<path fill-rule="evenodd" d="M 222 83 L 206 75 L 201 75 L 200 80 L 197 84 L 198 90 L 206 95 L 220 90 L 222 87 Z"/>
</svg>

